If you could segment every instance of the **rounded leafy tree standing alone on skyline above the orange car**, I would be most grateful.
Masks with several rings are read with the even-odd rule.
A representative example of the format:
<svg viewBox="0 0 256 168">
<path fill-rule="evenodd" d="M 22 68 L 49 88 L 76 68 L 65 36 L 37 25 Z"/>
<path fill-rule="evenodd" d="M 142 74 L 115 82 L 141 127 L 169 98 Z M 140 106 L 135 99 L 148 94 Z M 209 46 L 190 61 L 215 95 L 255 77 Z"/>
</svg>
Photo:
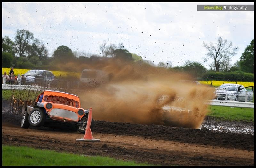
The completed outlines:
<svg viewBox="0 0 256 168">
<path fill-rule="evenodd" d="M 67 46 L 59 46 L 53 53 L 53 58 L 55 60 L 60 60 L 61 62 L 69 61 L 75 59 L 72 50 Z"/>
</svg>

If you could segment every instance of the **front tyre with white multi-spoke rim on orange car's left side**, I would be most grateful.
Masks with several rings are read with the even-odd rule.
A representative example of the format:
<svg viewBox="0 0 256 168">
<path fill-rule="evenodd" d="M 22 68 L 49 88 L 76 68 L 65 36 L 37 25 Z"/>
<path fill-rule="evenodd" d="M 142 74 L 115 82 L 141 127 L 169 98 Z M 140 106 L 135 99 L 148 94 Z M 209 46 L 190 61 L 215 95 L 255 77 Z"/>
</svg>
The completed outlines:
<svg viewBox="0 0 256 168">
<path fill-rule="evenodd" d="M 29 124 L 34 127 L 44 125 L 46 115 L 40 108 L 34 108 L 28 116 Z"/>
</svg>

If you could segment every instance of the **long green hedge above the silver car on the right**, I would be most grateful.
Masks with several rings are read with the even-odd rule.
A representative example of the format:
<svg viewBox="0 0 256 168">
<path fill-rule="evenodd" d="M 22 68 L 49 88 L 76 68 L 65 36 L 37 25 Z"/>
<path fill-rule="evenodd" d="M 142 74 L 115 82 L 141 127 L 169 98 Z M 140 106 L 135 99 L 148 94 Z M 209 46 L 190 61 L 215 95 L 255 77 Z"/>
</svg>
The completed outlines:
<svg viewBox="0 0 256 168">
<path fill-rule="evenodd" d="M 254 82 L 254 74 L 242 71 L 235 72 L 207 72 L 201 77 L 202 81 L 243 81 Z"/>
</svg>

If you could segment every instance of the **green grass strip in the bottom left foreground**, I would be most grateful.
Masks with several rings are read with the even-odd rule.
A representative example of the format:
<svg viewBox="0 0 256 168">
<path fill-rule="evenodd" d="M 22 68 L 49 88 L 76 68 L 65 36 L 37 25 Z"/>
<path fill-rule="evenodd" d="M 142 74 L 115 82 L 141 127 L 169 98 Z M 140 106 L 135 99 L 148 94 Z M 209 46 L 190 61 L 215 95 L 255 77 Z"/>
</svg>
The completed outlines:
<svg viewBox="0 0 256 168">
<path fill-rule="evenodd" d="M 110 157 L 82 156 L 38 150 L 29 147 L 2 145 L 2 166 L 149 166 Z"/>
</svg>

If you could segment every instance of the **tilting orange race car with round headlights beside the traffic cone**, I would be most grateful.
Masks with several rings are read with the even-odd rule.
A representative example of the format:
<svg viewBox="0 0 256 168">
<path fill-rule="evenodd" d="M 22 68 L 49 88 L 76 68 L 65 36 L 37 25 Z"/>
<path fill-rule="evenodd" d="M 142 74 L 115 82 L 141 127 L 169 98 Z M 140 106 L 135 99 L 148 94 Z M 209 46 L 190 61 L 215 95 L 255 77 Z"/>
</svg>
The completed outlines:
<svg viewBox="0 0 256 168">
<path fill-rule="evenodd" d="M 45 121 L 75 124 L 85 133 L 89 110 L 80 107 L 79 97 L 74 94 L 46 90 L 38 95 L 34 107 L 27 106 L 21 119 L 21 128 L 43 126 Z M 91 129 L 94 121 L 92 119 Z"/>
</svg>

